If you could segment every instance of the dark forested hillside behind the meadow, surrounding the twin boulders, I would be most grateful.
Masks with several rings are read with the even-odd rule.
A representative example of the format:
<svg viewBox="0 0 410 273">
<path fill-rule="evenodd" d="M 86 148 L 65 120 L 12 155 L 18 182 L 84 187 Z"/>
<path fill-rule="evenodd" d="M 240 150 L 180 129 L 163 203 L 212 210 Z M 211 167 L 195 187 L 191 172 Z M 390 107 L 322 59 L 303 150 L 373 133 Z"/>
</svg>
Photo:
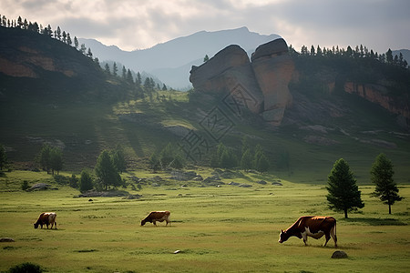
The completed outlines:
<svg viewBox="0 0 410 273">
<path fill-rule="evenodd" d="M 360 47 L 297 54 L 291 47 L 293 102 L 282 125 L 272 127 L 246 109 L 237 115 L 224 94 L 169 91 L 126 67 L 101 68 L 91 49 L 70 44 L 58 28 L 2 20 L 0 36 L 0 143 L 14 167 L 39 167 L 35 158 L 49 144 L 62 150 L 63 169 L 79 173 L 120 145 L 129 169 L 164 162 L 259 168 L 317 182 L 340 157 L 368 177 L 384 152 L 408 182 L 408 119 L 346 91 L 350 82 L 383 86 L 408 105 L 410 77 L 399 56 L 362 55 Z"/>
</svg>

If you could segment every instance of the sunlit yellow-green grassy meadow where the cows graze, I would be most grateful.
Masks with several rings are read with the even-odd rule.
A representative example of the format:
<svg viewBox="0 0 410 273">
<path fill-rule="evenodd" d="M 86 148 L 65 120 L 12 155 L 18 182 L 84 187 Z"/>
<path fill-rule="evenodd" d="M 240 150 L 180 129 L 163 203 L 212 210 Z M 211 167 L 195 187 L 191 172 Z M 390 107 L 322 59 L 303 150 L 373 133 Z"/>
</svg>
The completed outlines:
<svg viewBox="0 0 410 273">
<path fill-rule="evenodd" d="M 210 169 L 197 169 L 203 177 Z M 168 174 L 132 173 L 167 178 Z M 256 181 L 264 179 L 267 185 Z M 48 272 L 408 272 L 410 267 L 410 187 L 405 197 L 388 207 L 370 197 L 372 186 L 361 186 L 365 207 L 360 213 L 334 213 L 327 208 L 323 185 L 292 183 L 273 186 L 278 177 L 244 174 L 223 179 L 252 187 L 199 187 L 197 182 L 128 187 L 138 199 L 76 197 L 79 192 L 54 184 L 58 190 L 25 192 L 28 180 L 51 183 L 45 173 L 14 171 L 0 177 L 0 271 L 32 262 Z M 181 187 L 187 184 L 188 187 Z M 140 220 L 151 210 L 171 211 L 171 226 Z M 58 228 L 34 229 L 43 211 L 55 211 Z M 331 239 L 290 238 L 278 243 L 281 229 L 302 215 L 336 217 L 340 250 L 349 258 L 332 259 Z M 178 254 L 174 251 L 180 250 Z"/>
</svg>

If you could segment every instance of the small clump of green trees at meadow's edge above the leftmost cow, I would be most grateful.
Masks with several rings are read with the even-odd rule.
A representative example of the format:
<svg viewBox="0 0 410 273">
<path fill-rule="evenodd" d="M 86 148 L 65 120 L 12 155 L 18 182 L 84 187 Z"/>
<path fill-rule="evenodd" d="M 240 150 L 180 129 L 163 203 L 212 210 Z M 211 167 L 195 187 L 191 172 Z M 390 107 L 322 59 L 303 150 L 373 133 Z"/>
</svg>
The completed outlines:
<svg viewBox="0 0 410 273">
<path fill-rule="evenodd" d="M 58 147 L 51 147 L 48 144 L 43 145 L 36 159 L 47 174 L 51 172 L 54 175 L 56 172 L 58 175 L 59 171 L 63 169 L 63 151 Z"/>
</svg>

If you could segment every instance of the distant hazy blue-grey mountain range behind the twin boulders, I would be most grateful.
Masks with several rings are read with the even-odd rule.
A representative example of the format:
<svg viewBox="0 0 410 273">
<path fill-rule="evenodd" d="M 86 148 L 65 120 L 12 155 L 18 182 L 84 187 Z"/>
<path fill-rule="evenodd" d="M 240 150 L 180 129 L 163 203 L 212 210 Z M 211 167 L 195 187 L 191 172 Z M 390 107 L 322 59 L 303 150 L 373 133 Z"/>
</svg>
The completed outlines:
<svg viewBox="0 0 410 273">
<path fill-rule="evenodd" d="M 200 31 L 179 37 L 147 49 L 123 51 L 116 45 L 103 45 L 95 39 L 78 41 L 91 48 L 100 61 L 116 61 L 137 72 L 145 71 L 159 78 L 167 86 L 189 89 L 190 68 L 203 63 L 204 56 L 214 56 L 228 45 L 240 45 L 249 55 L 258 45 L 279 38 L 261 35 L 247 27 L 214 32 Z"/>
</svg>

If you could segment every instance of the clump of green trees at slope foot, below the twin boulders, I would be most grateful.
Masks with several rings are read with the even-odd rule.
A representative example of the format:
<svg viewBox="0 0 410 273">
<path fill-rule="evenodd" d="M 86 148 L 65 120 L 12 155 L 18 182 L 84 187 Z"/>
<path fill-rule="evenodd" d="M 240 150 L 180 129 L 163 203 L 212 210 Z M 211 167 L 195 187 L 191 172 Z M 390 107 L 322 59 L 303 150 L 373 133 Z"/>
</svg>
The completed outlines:
<svg viewBox="0 0 410 273">
<path fill-rule="evenodd" d="M 261 145 L 258 144 L 254 150 L 255 152 L 252 154 L 247 136 L 242 138 L 241 157 L 238 157 L 232 148 L 225 147 L 223 143 L 220 143 L 215 153 L 210 157 L 210 167 L 241 167 L 245 171 L 250 169 L 256 169 L 259 172 L 268 171 L 270 162 Z"/>
</svg>

